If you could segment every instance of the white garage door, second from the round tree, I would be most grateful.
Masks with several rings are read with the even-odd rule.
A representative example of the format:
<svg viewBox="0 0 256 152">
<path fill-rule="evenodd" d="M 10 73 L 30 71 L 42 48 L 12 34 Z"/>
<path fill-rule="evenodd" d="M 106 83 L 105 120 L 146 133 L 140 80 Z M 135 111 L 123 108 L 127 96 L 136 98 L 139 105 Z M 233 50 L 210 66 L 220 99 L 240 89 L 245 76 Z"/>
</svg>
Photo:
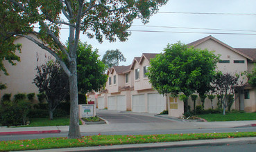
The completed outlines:
<svg viewBox="0 0 256 152">
<path fill-rule="evenodd" d="M 133 112 L 146 112 L 145 95 L 133 95 Z"/>
</svg>

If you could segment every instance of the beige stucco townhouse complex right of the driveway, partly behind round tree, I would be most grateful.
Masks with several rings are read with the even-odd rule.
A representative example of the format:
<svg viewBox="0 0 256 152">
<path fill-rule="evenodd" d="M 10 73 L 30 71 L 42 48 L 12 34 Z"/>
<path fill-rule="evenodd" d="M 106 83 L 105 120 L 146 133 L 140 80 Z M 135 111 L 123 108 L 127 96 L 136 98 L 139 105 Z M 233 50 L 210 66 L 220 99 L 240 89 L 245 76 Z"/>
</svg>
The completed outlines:
<svg viewBox="0 0 256 152">
<path fill-rule="evenodd" d="M 223 73 L 241 73 L 251 71 L 256 59 L 256 49 L 232 48 L 218 39 L 208 36 L 194 41 L 188 46 L 214 51 L 221 55 L 217 69 Z M 143 53 L 141 57 L 135 57 L 130 66 L 114 66 L 108 70 L 108 82 L 105 91 L 92 96 L 97 100 L 98 108 L 108 108 L 117 111 L 133 111 L 139 113 L 160 113 L 169 110 L 169 115 L 180 117 L 184 113 L 184 104 L 180 99 L 163 96 L 154 91 L 145 75 L 150 65 L 153 53 Z M 256 88 L 246 87 L 241 93 L 237 93 L 236 101 L 232 108 L 247 112 L 256 111 Z M 205 99 L 205 109 L 211 108 L 210 99 Z M 200 98 L 196 105 L 201 105 Z M 193 110 L 193 102 L 189 99 L 190 109 Z M 216 99 L 214 99 L 216 108 Z"/>
</svg>

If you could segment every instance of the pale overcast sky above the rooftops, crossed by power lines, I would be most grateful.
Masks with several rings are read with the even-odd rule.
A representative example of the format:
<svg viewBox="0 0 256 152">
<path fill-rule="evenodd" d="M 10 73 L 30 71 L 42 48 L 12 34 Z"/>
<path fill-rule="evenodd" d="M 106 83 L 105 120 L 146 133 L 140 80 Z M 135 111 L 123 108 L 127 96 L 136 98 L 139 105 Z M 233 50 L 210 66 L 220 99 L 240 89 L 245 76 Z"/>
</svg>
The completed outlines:
<svg viewBox="0 0 256 152">
<path fill-rule="evenodd" d="M 153 15 L 146 26 L 167 26 L 145 27 L 136 20 L 130 30 L 149 30 L 163 32 L 137 32 L 132 31 L 126 42 L 109 43 L 104 40 L 99 44 L 95 39 L 88 39 L 81 35 L 82 41 L 92 44 L 93 48 L 99 49 L 101 57 L 106 50 L 119 49 L 127 58 L 121 65 L 132 64 L 134 57 L 141 57 L 142 53 L 161 53 L 167 44 L 174 44 L 181 41 L 189 44 L 203 37 L 212 35 L 233 48 L 256 48 L 256 15 L 198 15 L 185 13 L 164 13 L 164 12 L 200 12 L 200 13 L 233 13 L 233 14 L 256 14 L 255 0 L 169 0 L 167 5 L 162 6 L 157 14 Z M 173 28 L 171 28 L 173 27 Z M 176 27 L 176 28 L 175 28 Z M 200 29 L 190 29 L 200 28 Z M 206 30 L 203 28 L 214 28 L 221 30 Z M 244 31 L 233 31 L 244 30 Z M 254 31 L 251 31 L 254 30 Z M 62 41 L 67 41 L 68 30 L 62 30 Z M 199 33 L 182 33 L 199 32 Z M 201 33 L 200 33 L 201 32 Z M 202 33 L 203 32 L 203 33 Z M 207 33 L 205 33 L 207 32 Z M 214 34 L 215 33 L 215 34 Z M 242 33 L 254 35 L 231 35 L 216 33 Z"/>
</svg>

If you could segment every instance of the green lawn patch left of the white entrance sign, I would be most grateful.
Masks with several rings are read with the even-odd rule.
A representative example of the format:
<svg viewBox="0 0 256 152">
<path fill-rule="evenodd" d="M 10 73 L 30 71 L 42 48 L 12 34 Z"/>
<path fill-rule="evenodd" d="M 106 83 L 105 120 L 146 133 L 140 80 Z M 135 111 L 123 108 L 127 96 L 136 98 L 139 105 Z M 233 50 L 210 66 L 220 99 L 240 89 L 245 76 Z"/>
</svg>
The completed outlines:
<svg viewBox="0 0 256 152">
<path fill-rule="evenodd" d="M 69 126 L 69 117 L 54 117 L 53 120 L 49 120 L 49 118 L 31 118 L 31 124 L 28 126 Z M 80 125 L 82 122 L 80 122 Z"/>
</svg>

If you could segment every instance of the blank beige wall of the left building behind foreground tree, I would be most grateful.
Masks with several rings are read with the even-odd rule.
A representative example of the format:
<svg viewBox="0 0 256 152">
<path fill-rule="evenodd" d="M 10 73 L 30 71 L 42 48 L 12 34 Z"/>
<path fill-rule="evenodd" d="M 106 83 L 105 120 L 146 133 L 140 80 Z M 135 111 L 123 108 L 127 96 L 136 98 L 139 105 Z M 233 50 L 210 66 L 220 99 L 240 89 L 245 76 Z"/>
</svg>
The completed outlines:
<svg viewBox="0 0 256 152">
<path fill-rule="evenodd" d="M 33 37 L 37 39 L 35 36 Z M 3 75 L 2 72 L 0 73 L 0 81 L 3 84 L 7 84 L 8 87 L 0 92 L 0 96 L 5 93 L 12 93 L 12 97 L 17 93 L 37 94 L 38 88 L 35 84 L 32 84 L 37 73 L 35 68 L 37 65 L 40 66 L 44 64 L 46 62 L 46 57 L 51 57 L 51 55 L 46 50 L 43 50 L 24 37 L 16 39 L 15 44 L 22 44 L 22 53 L 17 53 L 21 61 L 16 61 L 16 66 L 12 66 L 8 61 L 3 61 L 3 64 L 10 75 L 6 76 Z M 51 59 L 55 58 L 52 57 Z"/>
</svg>

